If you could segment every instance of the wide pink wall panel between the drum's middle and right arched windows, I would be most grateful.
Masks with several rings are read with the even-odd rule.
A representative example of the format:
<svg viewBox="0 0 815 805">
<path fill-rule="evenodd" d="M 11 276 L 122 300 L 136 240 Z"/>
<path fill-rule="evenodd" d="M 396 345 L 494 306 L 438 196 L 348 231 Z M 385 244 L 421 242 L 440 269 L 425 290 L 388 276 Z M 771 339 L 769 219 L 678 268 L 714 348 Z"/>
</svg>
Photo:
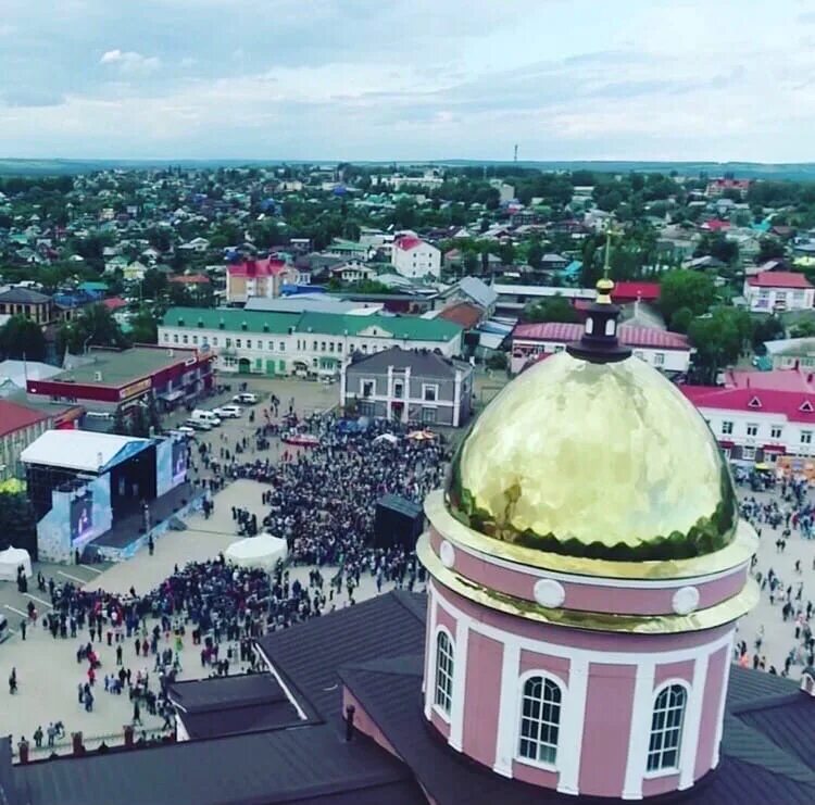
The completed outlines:
<svg viewBox="0 0 815 805">
<path fill-rule="evenodd" d="M 637 666 L 592 663 L 582 729 L 580 794 L 619 796 L 625 782 Z"/>
</svg>

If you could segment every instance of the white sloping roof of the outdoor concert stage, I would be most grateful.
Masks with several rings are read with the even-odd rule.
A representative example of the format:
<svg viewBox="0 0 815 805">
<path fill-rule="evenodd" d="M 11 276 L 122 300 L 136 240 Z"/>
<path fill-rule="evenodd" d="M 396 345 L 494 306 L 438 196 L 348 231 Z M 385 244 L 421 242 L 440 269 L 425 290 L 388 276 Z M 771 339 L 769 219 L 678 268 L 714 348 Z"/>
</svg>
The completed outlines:
<svg viewBox="0 0 815 805">
<path fill-rule="evenodd" d="M 104 473 L 149 448 L 150 439 L 89 430 L 47 430 L 20 455 L 25 464 Z"/>
</svg>

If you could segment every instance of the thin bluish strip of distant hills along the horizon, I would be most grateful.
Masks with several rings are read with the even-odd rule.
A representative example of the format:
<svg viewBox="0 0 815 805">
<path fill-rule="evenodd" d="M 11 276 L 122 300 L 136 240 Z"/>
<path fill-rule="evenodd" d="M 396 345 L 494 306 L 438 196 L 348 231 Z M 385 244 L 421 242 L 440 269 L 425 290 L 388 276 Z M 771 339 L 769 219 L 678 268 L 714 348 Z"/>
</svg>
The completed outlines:
<svg viewBox="0 0 815 805">
<path fill-rule="evenodd" d="M 326 165 L 339 160 L 16 160 L 0 159 L 0 176 L 63 176 L 111 169 L 147 169 L 180 166 L 186 168 L 273 166 L 280 164 Z M 389 160 L 352 160 L 358 165 L 392 165 Z M 398 165 L 427 165 L 444 167 L 478 167 L 480 165 L 512 165 L 500 160 L 399 160 Z M 741 179 L 795 179 L 815 181 L 815 163 L 763 162 L 639 162 L 639 161 L 518 161 L 521 167 L 540 171 L 597 171 L 602 173 L 664 173 L 676 172 L 682 176 L 705 173 L 711 177 L 732 174 Z"/>
</svg>

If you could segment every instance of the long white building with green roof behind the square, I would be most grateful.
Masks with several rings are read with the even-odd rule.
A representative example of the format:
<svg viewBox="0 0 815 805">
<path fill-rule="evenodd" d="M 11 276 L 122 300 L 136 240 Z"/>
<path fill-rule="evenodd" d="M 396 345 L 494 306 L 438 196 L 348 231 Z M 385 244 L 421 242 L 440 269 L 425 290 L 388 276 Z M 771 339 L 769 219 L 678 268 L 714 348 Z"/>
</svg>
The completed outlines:
<svg viewBox="0 0 815 805">
<path fill-rule="evenodd" d="M 206 349 L 217 368 L 263 375 L 334 376 L 351 353 L 400 347 L 461 354 L 462 328 L 443 319 L 350 313 L 172 307 L 159 326 L 165 349 Z"/>
</svg>

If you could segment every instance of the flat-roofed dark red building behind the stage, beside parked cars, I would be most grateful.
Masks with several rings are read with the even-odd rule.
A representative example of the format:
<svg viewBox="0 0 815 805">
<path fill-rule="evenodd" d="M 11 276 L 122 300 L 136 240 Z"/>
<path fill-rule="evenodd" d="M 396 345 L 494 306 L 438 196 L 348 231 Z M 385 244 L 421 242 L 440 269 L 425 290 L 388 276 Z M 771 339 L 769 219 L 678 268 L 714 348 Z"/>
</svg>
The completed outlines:
<svg viewBox="0 0 815 805">
<path fill-rule="evenodd" d="M 29 379 L 29 395 L 79 403 L 91 418 L 112 417 L 149 399 L 159 408 L 197 400 L 212 387 L 213 355 L 205 349 L 138 345 L 128 350 L 91 348 L 87 355 L 68 355 L 61 374 Z"/>
</svg>

